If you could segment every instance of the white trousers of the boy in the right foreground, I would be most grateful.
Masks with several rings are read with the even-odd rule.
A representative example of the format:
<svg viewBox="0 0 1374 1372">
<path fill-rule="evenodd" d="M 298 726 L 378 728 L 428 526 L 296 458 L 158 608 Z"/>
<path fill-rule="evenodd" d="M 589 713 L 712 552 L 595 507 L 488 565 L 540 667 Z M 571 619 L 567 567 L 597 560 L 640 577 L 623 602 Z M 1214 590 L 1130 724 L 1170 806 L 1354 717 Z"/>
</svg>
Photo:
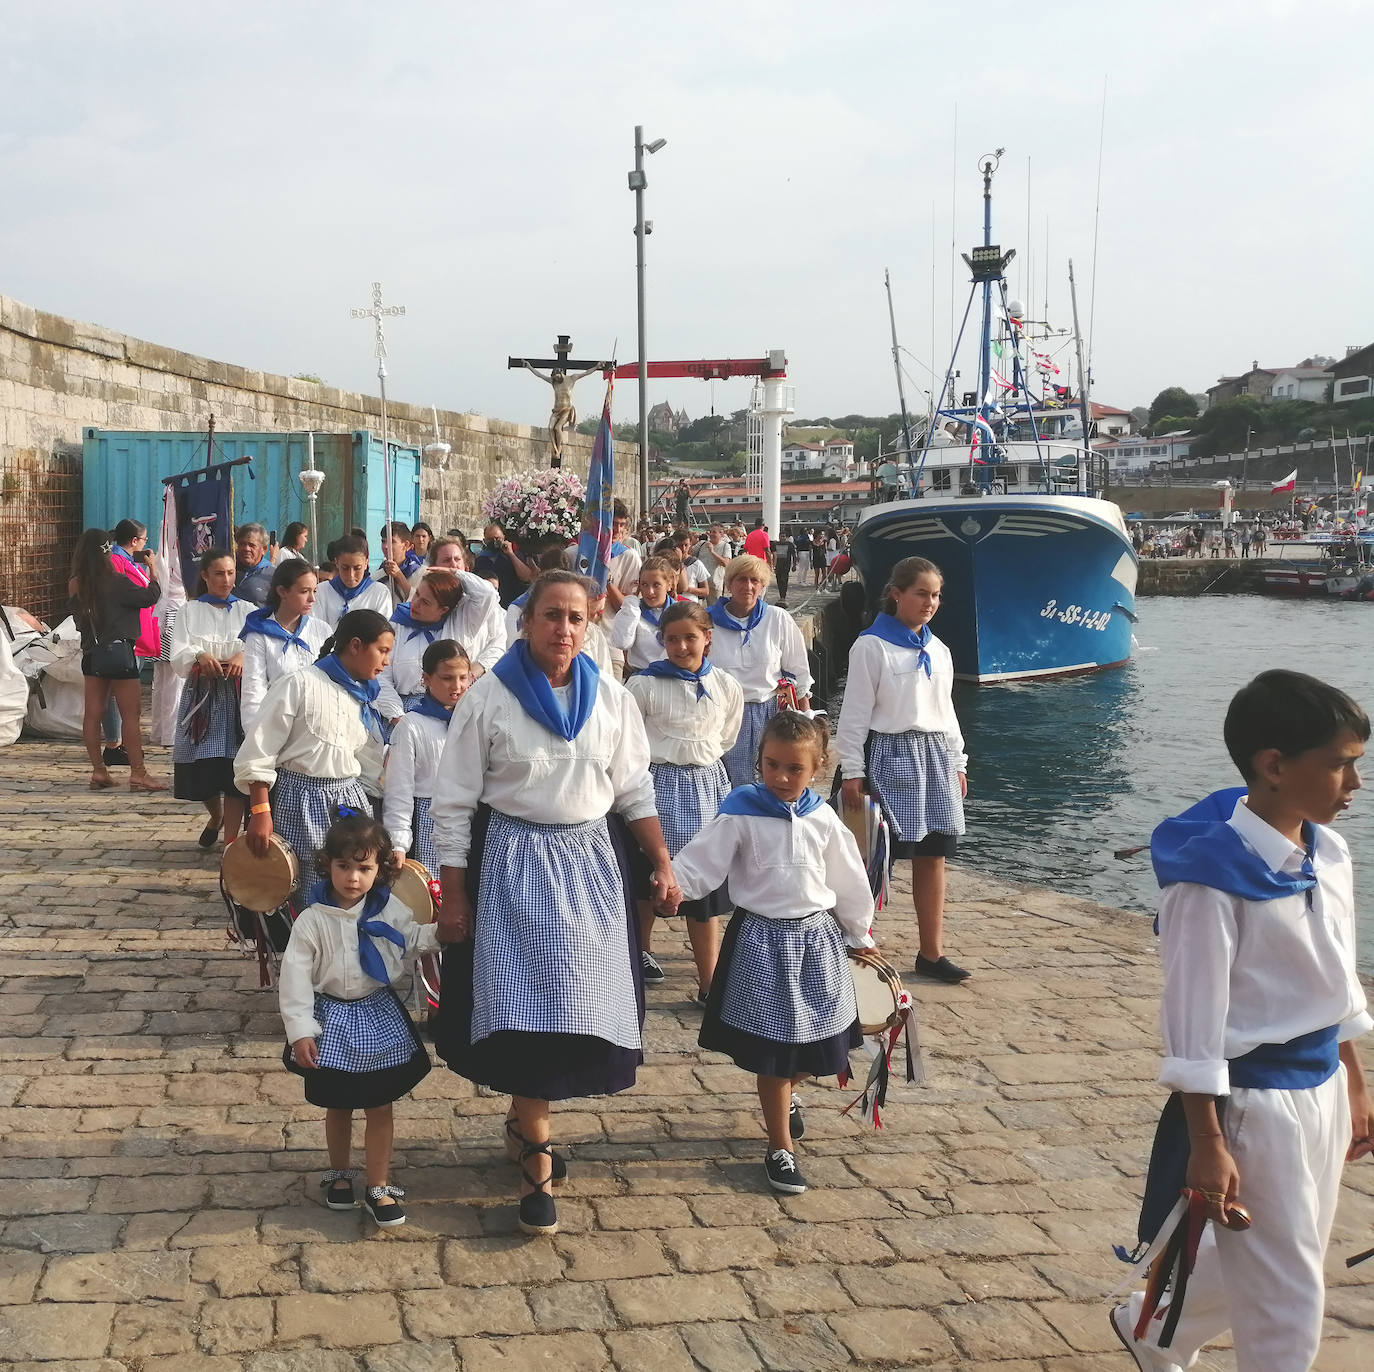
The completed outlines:
<svg viewBox="0 0 1374 1372">
<path fill-rule="evenodd" d="M 1154 1343 L 1158 1318 L 1142 1342 L 1165 1365 L 1189 1368 L 1204 1343 L 1230 1329 L 1238 1372 L 1308 1372 L 1322 1342 L 1322 1268 L 1351 1145 L 1345 1067 L 1308 1090 L 1238 1088 L 1221 1128 L 1254 1222 L 1204 1229 L 1169 1347 Z M 1132 1321 L 1142 1301 L 1131 1298 Z"/>
</svg>

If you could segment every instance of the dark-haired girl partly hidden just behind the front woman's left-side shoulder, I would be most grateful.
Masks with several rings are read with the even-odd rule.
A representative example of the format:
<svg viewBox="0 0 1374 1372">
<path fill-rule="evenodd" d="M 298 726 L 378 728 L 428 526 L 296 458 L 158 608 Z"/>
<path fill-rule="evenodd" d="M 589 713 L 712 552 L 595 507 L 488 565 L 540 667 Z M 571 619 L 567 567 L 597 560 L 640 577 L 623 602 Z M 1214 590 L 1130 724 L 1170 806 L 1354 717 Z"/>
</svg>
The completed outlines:
<svg viewBox="0 0 1374 1372">
<path fill-rule="evenodd" d="M 434 821 L 430 799 L 440 754 L 453 718 L 453 706 L 471 684 L 471 662 L 462 645 L 440 639 L 425 650 L 420 662 L 425 695 L 415 700 L 392 729 L 382 791 L 382 820 L 396 849 L 397 861 L 414 857 L 431 878 L 438 876 Z"/>
</svg>

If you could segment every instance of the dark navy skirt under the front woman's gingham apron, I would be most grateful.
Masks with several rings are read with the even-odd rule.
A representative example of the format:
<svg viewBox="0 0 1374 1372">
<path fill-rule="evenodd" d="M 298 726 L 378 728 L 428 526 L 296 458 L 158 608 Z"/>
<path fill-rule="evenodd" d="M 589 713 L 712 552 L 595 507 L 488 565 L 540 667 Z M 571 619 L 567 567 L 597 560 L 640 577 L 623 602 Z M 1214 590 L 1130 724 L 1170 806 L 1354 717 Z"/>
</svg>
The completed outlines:
<svg viewBox="0 0 1374 1372">
<path fill-rule="evenodd" d="M 473 816 L 473 843 L 467 856 L 467 898 L 478 908 L 482 850 L 491 810 L 480 805 Z M 631 897 L 627 860 L 629 835 L 618 816 L 607 820 L 611 845 L 620 864 L 625 890 L 625 924 L 629 937 L 631 965 L 635 976 L 635 1000 L 639 1022 L 644 1022 L 644 985 L 639 965 L 639 922 Z M 475 931 L 474 931 L 475 933 Z M 610 1096 L 635 1085 L 635 1074 L 644 1062 L 640 1049 L 621 1048 L 591 1034 L 550 1034 L 502 1030 L 478 1042 L 473 1031 L 473 949 L 475 938 L 444 948 L 438 1019 L 434 1026 L 434 1051 L 451 1071 L 506 1096 L 530 1100 L 572 1100 L 578 1096 Z"/>
</svg>

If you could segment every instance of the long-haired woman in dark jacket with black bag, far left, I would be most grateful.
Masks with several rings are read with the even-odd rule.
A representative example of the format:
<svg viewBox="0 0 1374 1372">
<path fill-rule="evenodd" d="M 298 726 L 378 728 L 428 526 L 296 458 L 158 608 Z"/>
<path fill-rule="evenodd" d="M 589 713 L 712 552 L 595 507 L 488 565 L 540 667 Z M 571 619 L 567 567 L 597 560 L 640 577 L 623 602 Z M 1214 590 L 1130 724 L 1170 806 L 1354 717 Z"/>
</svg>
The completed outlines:
<svg viewBox="0 0 1374 1372">
<path fill-rule="evenodd" d="M 147 585 L 121 577 L 110 563 L 110 540 L 103 529 L 87 529 L 77 540 L 71 559 L 73 614 L 81 629 L 81 673 L 85 677 L 85 709 L 81 739 L 91 759 L 91 790 L 114 786 L 102 755 L 100 720 L 106 702 L 114 696 L 124 725 L 124 746 L 129 754 L 129 790 L 165 791 L 166 783 L 148 776 L 143 759 L 143 731 L 139 662 L 133 645 L 142 632 L 142 613 L 157 604 L 158 585 L 153 553 L 137 553 L 146 569 Z"/>
</svg>

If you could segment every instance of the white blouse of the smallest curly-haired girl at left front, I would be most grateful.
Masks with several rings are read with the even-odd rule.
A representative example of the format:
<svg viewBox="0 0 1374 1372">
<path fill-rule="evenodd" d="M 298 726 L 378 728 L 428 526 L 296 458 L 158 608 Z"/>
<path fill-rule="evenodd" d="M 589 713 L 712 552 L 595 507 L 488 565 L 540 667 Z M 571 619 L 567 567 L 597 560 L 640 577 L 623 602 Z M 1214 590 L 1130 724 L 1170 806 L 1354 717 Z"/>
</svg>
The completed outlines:
<svg viewBox="0 0 1374 1372">
<path fill-rule="evenodd" d="M 361 1000 L 387 985 L 368 976 L 359 961 L 357 920 L 365 904 L 359 901 L 346 911 L 337 905 L 306 905 L 291 926 L 276 986 L 289 1044 L 301 1038 L 319 1038 L 324 1033 L 315 1018 L 316 992 L 335 1000 Z M 407 970 L 416 957 L 438 948 L 438 927 L 416 924 L 409 906 L 394 895 L 378 919 L 390 924 L 405 939 L 404 949 L 386 938 L 372 939 L 372 946 L 386 964 L 389 983 L 396 986 L 405 979 Z"/>
</svg>

